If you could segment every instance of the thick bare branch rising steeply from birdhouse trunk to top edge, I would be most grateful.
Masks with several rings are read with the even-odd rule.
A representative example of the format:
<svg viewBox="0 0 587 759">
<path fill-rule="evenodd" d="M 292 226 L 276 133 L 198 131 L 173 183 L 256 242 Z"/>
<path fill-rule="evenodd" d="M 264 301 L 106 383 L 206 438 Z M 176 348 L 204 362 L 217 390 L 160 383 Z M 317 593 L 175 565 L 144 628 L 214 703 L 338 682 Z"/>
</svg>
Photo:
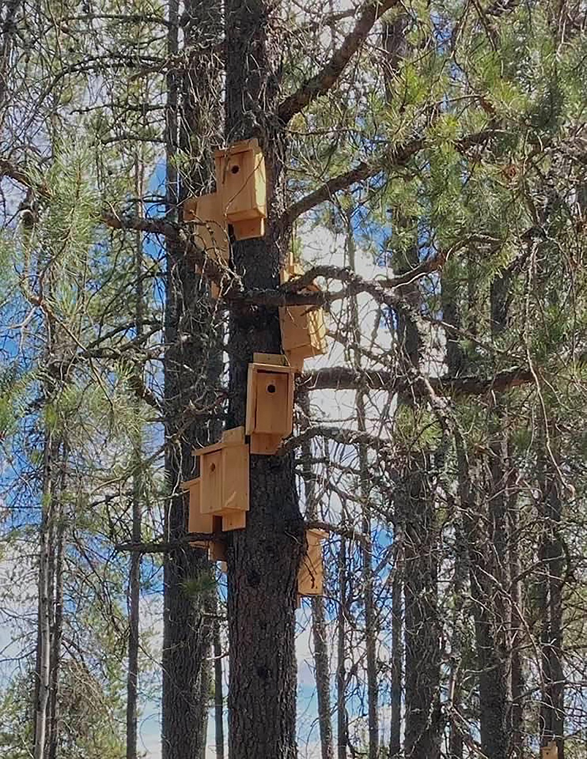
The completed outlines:
<svg viewBox="0 0 587 759">
<path fill-rule="evenodd" d="M 398 2 L 399 0 L 380 0 L 380 2 L 371 0 L 365 5 L 355 28 L 347 34 L 342 45 L 333 53 L 322 71 L 306 80 L 297 92 L 287 97 L 279 106 L 278 114 L 281 121 L 287 124 L 296 113 L 301 112 L 317 97 L 326 94 L 334 86 L 352 56 L 367 39 L 377 19 Z"/>
</svg>

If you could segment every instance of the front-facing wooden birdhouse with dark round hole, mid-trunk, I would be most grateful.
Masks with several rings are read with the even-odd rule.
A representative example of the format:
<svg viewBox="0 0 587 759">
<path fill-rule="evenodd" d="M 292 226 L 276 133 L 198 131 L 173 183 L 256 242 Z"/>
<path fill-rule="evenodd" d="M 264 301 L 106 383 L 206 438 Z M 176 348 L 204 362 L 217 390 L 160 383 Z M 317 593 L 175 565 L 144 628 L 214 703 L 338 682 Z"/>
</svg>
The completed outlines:
<svg viewBox="0 0 587 759">
<path fill-rule="evenodd" d="M 286 357 L 255 353 L 248 365 L 246 433 L 251 453 L 271 455 L 292 434 L 295 370 Z"/>
</svg>

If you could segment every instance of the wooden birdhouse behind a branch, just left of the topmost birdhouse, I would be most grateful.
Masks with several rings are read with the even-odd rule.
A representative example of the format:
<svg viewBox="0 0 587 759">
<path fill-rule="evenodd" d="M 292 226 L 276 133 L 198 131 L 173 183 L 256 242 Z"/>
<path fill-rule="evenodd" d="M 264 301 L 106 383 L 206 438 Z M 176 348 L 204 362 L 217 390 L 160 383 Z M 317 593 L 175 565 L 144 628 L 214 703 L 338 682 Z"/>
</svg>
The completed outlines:
<svg viewBox="0 0 587 759">
<path fill-rule="evenodd" d="M 230 260 L 229 234 L 222 209 L 222 198 L 217 193 L 200 195 L 185 200 L 184 222 L 194 224 L 194 241 L 215 263 L 228 266 Z M 197 271 L 201 273 L 201 267 Z M 212 297 L 219 296 L 219 287 L 211 285 Z"/>
</svg>

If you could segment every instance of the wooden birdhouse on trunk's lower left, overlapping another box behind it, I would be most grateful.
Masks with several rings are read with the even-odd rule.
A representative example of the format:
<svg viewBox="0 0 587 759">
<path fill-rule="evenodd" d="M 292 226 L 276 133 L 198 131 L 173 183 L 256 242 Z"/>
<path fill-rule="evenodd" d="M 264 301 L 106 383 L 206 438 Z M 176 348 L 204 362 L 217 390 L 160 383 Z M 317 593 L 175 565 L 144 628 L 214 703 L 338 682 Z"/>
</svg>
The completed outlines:
<svg viewBox="0 0 587 759">
<path fill-rule="evenodd" d="M 248 512 L 248 445 L 245 428 L 226 430 L 222 440 L 194 449 L 200 458 L 200 514 L 222 517 L 222 530 L 241 530 Z"/>
</svg>

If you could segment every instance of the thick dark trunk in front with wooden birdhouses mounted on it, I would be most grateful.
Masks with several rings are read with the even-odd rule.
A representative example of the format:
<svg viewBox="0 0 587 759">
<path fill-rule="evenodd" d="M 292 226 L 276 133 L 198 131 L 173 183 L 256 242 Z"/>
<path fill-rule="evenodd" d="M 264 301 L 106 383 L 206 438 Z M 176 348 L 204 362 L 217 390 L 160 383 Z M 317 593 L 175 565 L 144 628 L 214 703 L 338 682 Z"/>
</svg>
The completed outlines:
<svg viewBox="0 0 587 759">
<path fill-rule="evenodd" d="M 264 238 L 232 244 L 245 288 L 274 288 L 286 262 L 286 133 L 276 118 L 281 60 L 279 8 L 268 0 L 228 0 L 226 138 L 257 134 L 267 166 Z M 245 423 L 248 363 L 254 351 L 281 352 L 276 308 L 232 307 L 229 427 Z M 229 756 L 295 759 L 295 606 L 304 527 L 294 457 L 251 455 L 245 530 L 229 534 Z"/>
</svg>

